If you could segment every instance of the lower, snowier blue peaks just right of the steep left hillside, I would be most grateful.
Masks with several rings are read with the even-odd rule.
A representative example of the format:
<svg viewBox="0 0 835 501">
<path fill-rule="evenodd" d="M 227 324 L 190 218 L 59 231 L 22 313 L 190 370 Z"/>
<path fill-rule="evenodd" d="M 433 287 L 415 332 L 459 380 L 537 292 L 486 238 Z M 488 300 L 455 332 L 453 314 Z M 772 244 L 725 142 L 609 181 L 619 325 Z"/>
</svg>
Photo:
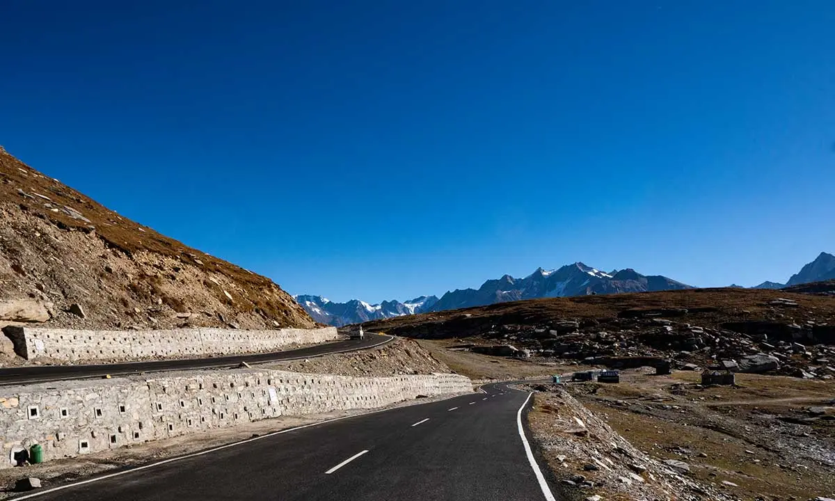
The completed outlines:
<svg viewBox="0 0 835 501">
<path fill-rule="evenodd" d="M 429 311 L 438 301 L 435 296 L 420 296 L 406 302 L 382 301 L 370 305 L 366 301 L 352 299 L 344 303 L 330 301 L 322 296 L 293 296 L 313 320 L 331 326 L 344 326 L 363 321 L 391 318 L 392 316 L 414 315 Z"/>
</svg>

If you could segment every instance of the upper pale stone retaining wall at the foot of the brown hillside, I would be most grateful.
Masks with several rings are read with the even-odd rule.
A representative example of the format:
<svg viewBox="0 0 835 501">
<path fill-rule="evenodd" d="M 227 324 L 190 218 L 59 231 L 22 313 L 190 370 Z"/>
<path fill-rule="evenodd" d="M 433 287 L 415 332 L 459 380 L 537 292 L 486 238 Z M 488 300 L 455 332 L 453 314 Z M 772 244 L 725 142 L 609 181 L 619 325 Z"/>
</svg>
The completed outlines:
<svg viewBox="0 0 835 501">
<path fill-rule="evenodd" d="M 8 326 L 3 332 L 14 351 L 27 360 L 58 362 L 147 360 L 271 352 L 291 344 L 337 338 L 336 327 L 239 331 L 234 329 L 174 329 L 170 331 L 77 331 Z"/>
</svg>

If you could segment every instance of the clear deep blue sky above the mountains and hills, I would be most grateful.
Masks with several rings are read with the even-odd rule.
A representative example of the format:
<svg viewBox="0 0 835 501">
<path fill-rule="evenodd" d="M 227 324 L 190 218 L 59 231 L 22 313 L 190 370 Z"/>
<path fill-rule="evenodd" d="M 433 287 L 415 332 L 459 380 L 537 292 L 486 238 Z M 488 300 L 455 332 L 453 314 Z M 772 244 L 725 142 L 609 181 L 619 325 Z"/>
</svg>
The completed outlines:
<svg viewBox="0 0 835 501">
<path fill-rule="evenodd" d="M 0 14 L 0 144 L 294 294 L 574 261 L 754 285 L 835 251 L 829 0 Z"/>
</svg>

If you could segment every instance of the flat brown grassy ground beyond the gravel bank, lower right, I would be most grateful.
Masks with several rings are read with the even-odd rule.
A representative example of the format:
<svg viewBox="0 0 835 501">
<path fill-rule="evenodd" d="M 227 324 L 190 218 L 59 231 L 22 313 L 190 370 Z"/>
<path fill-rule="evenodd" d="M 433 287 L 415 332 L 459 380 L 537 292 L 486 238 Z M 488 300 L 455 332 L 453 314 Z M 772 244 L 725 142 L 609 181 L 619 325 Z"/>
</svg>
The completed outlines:
<svg viewBox="0 0 835 501">
<path fill-rule="evenodd" d="M 576 399 L 641 455 L 728 497 L 805 501 L 835 493 L 832 387 L 828 381 L 754 374 L 737 375 L 732 387 L 702 386 L 691 372 L 655 376 L 636 369 L 621 372 L 620 384 L 565 384 L 574 398 L 543 385 L 537 401 Z M 539 411 L 549 420 L 547 407 Z M 613 452 L 645 477 L 635 467 L 646 465 L 634 450 Z M 582 465 L 568 469 L 581 472 Z M 597 475 L 586 473 L 590 479 Z"/>
</svg>

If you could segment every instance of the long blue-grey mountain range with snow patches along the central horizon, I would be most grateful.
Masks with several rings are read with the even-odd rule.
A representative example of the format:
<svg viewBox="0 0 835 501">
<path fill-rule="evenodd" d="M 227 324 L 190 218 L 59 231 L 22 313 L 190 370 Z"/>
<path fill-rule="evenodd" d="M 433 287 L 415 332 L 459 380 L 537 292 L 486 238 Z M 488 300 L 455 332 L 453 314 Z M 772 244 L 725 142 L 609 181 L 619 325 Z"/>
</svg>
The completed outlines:
<svg viewBox="0 0 835 501">
<path fill-rule="evenodd" d="M 577 262 L 558 270 L 538 268 L 529 276 L 514 278 L 505 275 L 488 280 L 478 289 L 457 289 L 437 296 L 420 296 L 411 301 L 382 301 L 370 305 L 353 299 L 344 303 L 322 296 L 294 296 L 314 320 L 331 326 L 344 326 L 363 321 L 413 315 L 429 311 L 454 310 L 484 306 L 498 302 L 519 301 L 537 297 L 584 296 L 618 292 L 669 291 L 691 286 L 660 275 L 641 275 L 631 268 L 609 273 Z"/>
</svg>

